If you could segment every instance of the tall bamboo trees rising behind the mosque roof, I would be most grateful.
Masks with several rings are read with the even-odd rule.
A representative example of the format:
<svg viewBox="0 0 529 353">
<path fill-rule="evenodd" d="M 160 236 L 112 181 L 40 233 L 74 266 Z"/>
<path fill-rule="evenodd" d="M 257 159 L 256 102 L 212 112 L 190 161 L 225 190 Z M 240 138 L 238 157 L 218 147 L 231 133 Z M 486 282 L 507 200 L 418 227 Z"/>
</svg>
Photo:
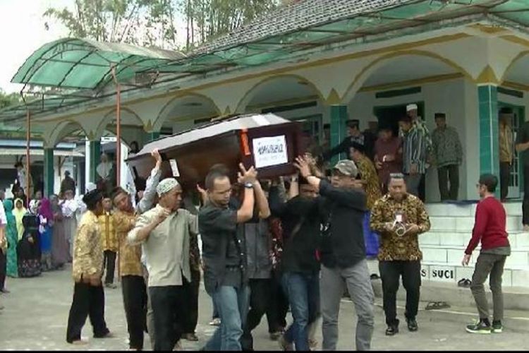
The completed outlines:
<svg viewBox="0 0 529 353">
<path fill-rule="evenodd" d="M 176 22 L 185 20 L 186 43 L 181 44 L 190 50 L 279 4 L 280 0 L 75 0 L 73 11 L 51 7 L 44 17 L 58 20 L 71 37 L 165 49 L 179 47 Z"/>
</svg>

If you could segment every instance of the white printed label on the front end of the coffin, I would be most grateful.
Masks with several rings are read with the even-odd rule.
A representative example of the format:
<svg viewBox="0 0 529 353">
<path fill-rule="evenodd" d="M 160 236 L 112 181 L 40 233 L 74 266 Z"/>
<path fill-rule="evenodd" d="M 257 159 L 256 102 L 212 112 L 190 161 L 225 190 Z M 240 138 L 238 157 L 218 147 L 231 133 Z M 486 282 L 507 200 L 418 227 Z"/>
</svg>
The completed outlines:
<svg viewBox="0 0 529 353">
<path fill-rule="evenodd" d="M 252 143 L 253 159 L 256 168 L 269 167 L 271 165 L 288 162 L 286 138 L 284 135 L 254 138 Z"/>
</svg>

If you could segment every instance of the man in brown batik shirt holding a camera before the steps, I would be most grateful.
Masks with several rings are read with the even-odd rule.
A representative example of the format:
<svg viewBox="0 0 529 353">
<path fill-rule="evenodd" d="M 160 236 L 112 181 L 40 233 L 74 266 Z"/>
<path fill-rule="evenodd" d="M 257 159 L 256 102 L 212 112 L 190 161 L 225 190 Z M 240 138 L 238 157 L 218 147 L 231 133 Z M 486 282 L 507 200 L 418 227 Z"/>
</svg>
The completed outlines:
<svg viewBox="0 0 529 353">
<path fill-rule="evenodd" d="M 418 330 L 417 311 L 420 297 L 420 261 L 418 234 L 430 230 L 430 217 L 417 196 L 406 191 L 403 174 L 391 174 L 389 193 L 372 208 L 370 226 L 381 236 L 378 260 L 382 278 L 386 335 L 399 333 L 396 318 L 396 293 L 399 278 L 406 289 L 406 322 L 411 332 Z"/>
</svg>

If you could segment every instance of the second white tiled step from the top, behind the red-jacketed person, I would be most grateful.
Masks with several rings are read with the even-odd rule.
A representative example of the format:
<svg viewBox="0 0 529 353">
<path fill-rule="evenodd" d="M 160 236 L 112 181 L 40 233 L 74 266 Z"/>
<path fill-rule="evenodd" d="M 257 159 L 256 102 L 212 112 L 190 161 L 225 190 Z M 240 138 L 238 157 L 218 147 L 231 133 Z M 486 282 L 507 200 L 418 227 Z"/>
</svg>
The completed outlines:
<svg viewBox="0 0 529 353">
<path fill-rule="evenodd" d="M 430 215 L 430 231 L 432 232 L 472 232 L 474 216 L 433 216 Z M 507 232 L 520 232 L 523 229 L 522 216 L 507 216 Z"/>
</svg>

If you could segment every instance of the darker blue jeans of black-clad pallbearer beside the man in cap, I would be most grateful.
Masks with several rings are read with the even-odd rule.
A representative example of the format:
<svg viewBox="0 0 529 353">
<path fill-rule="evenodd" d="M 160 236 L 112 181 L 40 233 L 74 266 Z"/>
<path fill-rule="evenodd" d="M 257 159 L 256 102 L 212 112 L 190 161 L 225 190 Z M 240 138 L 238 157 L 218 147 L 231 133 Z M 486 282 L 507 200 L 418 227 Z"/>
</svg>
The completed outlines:
<svg viewBox="0 0 529 353">
<path fill-rule="evenodd" d="M 308 325 L 320 314 L 320 273 L 284 273 L 283 287 L 294 318 L 284 337 L 297 351 L 308 351 Z"/>
</svg>

